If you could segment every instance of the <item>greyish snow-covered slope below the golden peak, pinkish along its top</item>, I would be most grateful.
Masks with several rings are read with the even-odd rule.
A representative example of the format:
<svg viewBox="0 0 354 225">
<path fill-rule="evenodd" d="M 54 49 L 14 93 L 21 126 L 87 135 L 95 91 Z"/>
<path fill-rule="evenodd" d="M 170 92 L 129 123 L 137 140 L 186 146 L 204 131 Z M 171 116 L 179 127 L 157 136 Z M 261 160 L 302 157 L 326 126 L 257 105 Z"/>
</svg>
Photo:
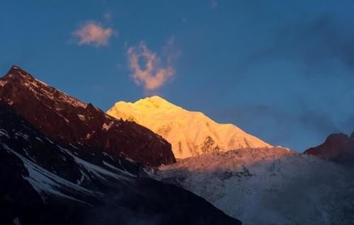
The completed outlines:
<svg viewBox="0 0 354 225">
<path fill-rule="evenodd" d="M 353 171 L 282 148 L 178 159 L 162 180 L 181 185 L 243 224 L 354 224 Z"/>
</svg>

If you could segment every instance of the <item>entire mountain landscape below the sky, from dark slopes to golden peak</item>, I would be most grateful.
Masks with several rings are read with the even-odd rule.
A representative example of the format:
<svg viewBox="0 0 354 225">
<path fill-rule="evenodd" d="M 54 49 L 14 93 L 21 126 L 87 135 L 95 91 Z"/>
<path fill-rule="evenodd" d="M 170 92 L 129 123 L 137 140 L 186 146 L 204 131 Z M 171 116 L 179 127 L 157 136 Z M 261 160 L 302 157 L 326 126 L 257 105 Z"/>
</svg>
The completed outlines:
<svg viewBox="0 0 354 225">
<path fill-rule="evenodd" d="M 0 79 L 0 224 L 354 224 L 354 134 L 297 153 L 159 96 Z"/>
</svg>

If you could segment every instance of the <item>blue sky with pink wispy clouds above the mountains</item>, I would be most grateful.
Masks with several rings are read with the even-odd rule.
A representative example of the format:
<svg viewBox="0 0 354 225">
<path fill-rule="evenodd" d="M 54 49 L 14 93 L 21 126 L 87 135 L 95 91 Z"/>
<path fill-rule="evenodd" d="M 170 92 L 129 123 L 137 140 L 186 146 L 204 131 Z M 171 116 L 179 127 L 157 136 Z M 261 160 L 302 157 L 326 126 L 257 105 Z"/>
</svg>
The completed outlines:
<svg viewBox="0 0 354 225">
<path fill-rule="evenodd" d="M 5 0 L 0 71 L 18 64 L 103 110 L 158 94 L 303 151 L 354 130 L 353 11 L 349 0 Z"/>
</svg>

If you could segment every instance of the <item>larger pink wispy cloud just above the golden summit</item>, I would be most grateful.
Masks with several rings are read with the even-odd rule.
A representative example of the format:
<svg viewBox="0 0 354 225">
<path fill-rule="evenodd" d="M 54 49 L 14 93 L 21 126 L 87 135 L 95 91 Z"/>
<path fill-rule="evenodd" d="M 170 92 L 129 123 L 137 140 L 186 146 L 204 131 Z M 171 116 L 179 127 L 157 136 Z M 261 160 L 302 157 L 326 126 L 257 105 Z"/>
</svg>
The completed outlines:
<svg viewBox="0 0 354 225">
<path fill-rule="evenodd" d="M 161 62 L 156 52 L 149 50 L 144 42 L 140 42 L 137 47 L 129 47 L 127 57 L 129 67 L 132 70 L 132 78 L 135 83 L 142 85 L 145 91 L 155 91 L 166 83 L 175 74 L 175 70 L 171 67 L 173 59 L 178 54 L 170 52 L 173 45 L 174 37 L 168 40 L 163 47 L 163 54 L 166 54 L 166 62 Z M 163 64 L 165 67 L 163 67 Z"/>
</svg>

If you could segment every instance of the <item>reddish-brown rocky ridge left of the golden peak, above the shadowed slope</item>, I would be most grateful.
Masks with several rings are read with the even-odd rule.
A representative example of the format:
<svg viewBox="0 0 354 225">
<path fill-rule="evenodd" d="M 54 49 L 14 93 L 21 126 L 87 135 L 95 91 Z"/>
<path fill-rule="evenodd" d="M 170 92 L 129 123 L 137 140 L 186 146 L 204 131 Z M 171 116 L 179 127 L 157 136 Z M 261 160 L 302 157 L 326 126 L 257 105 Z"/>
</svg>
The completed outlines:
<svg viewBox="0 0 354 225">
<path fill-rule="evenodd" d="M 19 67 L 0 79 L 0 102 L 57 141 L 124 154 L 148 166 L 176 162 L 171 145 L 146 127 L 115 120 Z"/>
</svg>

